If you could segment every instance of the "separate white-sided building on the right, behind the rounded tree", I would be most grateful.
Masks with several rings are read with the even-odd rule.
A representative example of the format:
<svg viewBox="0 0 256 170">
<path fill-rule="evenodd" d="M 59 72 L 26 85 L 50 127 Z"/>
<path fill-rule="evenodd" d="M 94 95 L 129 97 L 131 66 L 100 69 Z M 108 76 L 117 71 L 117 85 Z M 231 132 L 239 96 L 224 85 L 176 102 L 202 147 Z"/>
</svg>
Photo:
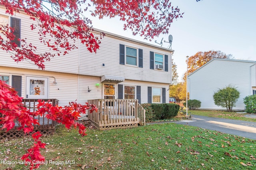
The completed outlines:
<svg viewBox="0 0 256 170">
<path fill-rule="evenodd" d="M 190 99 L 200 100 L 200 109 L 226 110 L 214 104 L 213 95 L 228 85 L 240 92 L 233 110 L 244 110 L 244 98 L 256 94 L 256 61 L 212 59 L 188 75 Z"/>
</svg>

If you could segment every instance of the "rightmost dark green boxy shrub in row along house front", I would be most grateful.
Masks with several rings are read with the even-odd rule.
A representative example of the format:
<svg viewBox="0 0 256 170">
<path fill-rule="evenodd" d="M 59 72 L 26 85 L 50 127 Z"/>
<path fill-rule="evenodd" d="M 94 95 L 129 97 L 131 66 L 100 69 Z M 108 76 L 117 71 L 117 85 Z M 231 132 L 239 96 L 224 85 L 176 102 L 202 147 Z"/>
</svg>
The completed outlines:
<svg viewBox="0 0 256 170">
<path fill-rule="evenodd" d="M 178 112 L 180 110 L 180 105 L 178 104 L 163 104 L 164 105 L 164 111 L 162 113 L 163 119 L 170 119 L 171 117 L 175 117 L 178 115 Z"/>
</svg>

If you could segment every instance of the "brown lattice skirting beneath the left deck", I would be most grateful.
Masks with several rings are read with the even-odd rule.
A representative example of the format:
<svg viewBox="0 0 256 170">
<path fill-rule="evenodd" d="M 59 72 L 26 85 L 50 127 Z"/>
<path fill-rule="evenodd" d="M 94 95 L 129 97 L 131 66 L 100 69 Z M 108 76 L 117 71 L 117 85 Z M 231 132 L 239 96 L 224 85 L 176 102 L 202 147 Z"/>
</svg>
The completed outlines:
<svg viewBox="0 0 256 170">
<path fill-rule="evenodd" d="M 8 132 L 5 131 L 0 131 L 0 140 L 2 139 L 13 139 L 13 138 L 18 138 L 18 137 L 23 137 L 27 135 L 31 135 L 34 132 L 40 131 L 41 134 L 43 135 L 52 135 L 55 132 L 55 127 L 51 127 L 50 129 L 36 129 L 33 132 L 26 133 L 24 134 L 24 131 L 19 131 L 18 129 L 11 129 Z"/>
</svg>

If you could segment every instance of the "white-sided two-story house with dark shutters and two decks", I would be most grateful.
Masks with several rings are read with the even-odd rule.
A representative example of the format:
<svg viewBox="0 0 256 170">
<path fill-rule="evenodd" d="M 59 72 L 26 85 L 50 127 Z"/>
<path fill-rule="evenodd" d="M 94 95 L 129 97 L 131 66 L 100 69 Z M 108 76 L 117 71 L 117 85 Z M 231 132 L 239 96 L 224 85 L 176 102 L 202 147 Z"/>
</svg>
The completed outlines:
<svg viewBox="0 0 256 170">
<path fill-rule="evenodd" d="M 40 43 L 38 31 L 31 31 L 33 21 L 25 14 L 9 16 L 1 8 L 0 20 L 10 25 L 11 20 L 15 20 L 20 24 L 18 34 L 21 39 L 31 41 L 38 53 L 48 50 Z M 95 30 L 95 33 L 100 32 Z M 83 104 L 87 100 L 102 98 L 168 103 L 174 51 L 105 33 L 96 54 L 77 43 L 78 49 L 45 62 L 45 70 L 29 61 L 16 63 L 9 53 L 0 51 L 0 78 L 23 98 L 58 99 L 60 106 L 75 100 Z"/>
</svg>

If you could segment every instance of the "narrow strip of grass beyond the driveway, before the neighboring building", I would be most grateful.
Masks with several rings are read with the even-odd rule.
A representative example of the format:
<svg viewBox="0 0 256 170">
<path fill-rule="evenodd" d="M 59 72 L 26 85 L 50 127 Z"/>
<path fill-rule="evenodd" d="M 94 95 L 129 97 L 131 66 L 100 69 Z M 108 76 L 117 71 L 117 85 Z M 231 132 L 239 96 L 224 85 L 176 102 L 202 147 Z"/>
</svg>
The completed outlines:
<svg viewBox="0 0 256 170">
<path fill-rule="evenodd" d="M 248 113 L 236 113 L 236 112 L 217 111 L 217 110 L 188 110 L 188 113 L 191 113 L 194 115 L 208 116 L 208 117 L 220 117 L 220 118 L 226 118 L 226 119 L 256 122 L 256 119 L 244 117 L 244 115 Z"/>
</svg>

